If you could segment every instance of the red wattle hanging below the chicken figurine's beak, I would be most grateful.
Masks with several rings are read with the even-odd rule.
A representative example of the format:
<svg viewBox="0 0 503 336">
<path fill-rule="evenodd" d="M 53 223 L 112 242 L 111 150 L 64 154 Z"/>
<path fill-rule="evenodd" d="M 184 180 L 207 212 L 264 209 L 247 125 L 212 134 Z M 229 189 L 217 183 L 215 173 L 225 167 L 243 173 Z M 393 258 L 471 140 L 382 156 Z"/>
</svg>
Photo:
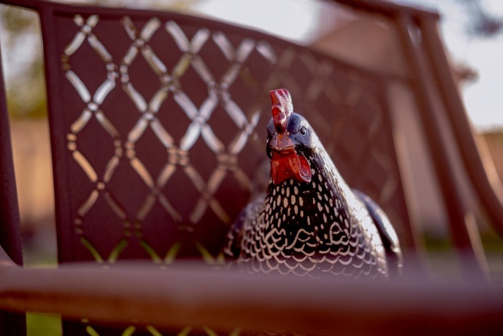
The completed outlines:
<svg viewBox="0 0 503 336">
<path fill-rule="evenodd" d="M 311 182 L 311 166 L 303 155 L 291 151 L 286 154 L 273 152 L 271 176 L 275 185 L 293 178 L 297 182 Z"/>
</svg>

